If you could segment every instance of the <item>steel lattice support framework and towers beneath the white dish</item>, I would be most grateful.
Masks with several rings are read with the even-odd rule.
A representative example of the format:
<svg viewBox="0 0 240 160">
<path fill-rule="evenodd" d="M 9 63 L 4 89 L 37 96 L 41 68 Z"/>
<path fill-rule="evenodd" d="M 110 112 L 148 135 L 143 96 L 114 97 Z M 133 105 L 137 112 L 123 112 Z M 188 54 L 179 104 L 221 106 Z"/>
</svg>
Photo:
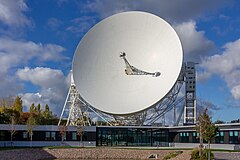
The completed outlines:
<svg viewBox="0 0 240 160">
<path fill-rule="evenodd" d="M 185 89 L 182 86 L 185 86 Z M 179 96 L 179 93 L 182 91 L 184 93 L 183 96 Z M 179 105 L 181 107 L 177 118 L 176 106 Z M 182 115 L 184 115 L 184 125 L 196 124 L 196 74 L 194 62 L 183 64 L 176 84 L 160 102 L 147 110 L 125 116 L 105 114 L 90 106 L 77 91 L 71 74 L 71 85 L 58 125 L 91 126 L 91 119 L 96 117 L 105 122 L 105 125 L 165 125 L 165 120 L 161 124 L 159 120 L 165 117 L 165 114 L 171 110 L 174 111 L 174 125 L 179 124 Z"/>
</svg>

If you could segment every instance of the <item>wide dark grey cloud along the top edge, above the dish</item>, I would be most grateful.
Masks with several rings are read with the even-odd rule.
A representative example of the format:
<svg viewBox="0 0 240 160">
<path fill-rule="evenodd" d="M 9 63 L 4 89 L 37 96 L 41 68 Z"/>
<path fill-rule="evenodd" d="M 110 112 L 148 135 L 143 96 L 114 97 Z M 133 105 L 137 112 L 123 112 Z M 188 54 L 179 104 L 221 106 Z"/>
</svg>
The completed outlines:
<svg viewBox="0 0 240 160">
<path fill-rule="evenodd" d="M 231 1 L 224 0 L 95 0 L 89 3 L 86 9 L 97 12 L 102 18 L 128 10 L 141 10 L 157 14 L 172 22 L 189 21 L 202 16 L 204 11 L 212 11 Z"/>
</svg>

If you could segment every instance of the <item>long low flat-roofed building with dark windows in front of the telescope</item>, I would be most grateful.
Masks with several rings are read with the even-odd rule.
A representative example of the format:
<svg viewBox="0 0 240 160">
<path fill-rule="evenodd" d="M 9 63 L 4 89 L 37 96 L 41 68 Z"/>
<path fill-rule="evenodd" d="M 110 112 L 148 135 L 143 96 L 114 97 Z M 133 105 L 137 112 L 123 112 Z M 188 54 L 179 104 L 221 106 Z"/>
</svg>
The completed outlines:
<svg viewBox="0 0 240 160">
<path fill-rule="evenodd" d="M 240 150 L 240 123 L 218 124 L 219 131 L 211 147 L 217 149 Z M 0 125 L 0 147 L 7 146 L 145 146 L 194 148 L 199 145 L 196 127 L 174 126 L 86 126 L 83 127 L 83 144 L 77 128 L 69 126 L 63 137 L 56 125 L 41 125 L 33 128 L 30 141 L 26 125 L 14 126 L 16 133 L 11 142 L 11 125 Z M 205 143 L 205 146 L 207 144 Z"/>
</svg>

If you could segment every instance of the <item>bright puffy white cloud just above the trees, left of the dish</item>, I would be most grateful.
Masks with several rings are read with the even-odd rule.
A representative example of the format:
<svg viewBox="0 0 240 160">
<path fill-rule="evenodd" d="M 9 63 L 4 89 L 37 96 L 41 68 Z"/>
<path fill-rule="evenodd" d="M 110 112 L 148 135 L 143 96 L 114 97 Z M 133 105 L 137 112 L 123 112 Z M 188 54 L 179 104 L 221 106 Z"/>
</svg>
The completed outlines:
<svg viewBox="0 0 240 160">
<path fill-rule="evenodd" d="M 16 75 L 20 80 L 40 87 L 37 93 L 21 94 L 24 106 L 30 107 L 32 103 L 40 103 L 42 106 L 48 104 L 54 113 L 59 114 L 66 98 L 69 76 L 65 77 L 61 70 L 44 67 L 25 67 L 18 69 Z"/>
</svg>

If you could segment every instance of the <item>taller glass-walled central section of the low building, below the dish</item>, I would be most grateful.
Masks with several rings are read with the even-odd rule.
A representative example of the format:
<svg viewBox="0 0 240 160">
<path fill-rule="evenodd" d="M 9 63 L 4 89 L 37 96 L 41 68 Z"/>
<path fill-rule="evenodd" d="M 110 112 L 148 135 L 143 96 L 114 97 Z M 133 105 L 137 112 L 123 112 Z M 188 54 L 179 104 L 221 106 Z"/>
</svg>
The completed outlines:
<svg viewBox="0 0 240 160">
<path fill-rule="evenodd" d="M 152 128 L 97 128 L 98 146 L 168 146 L 168 131 Z"/>
</svg>

